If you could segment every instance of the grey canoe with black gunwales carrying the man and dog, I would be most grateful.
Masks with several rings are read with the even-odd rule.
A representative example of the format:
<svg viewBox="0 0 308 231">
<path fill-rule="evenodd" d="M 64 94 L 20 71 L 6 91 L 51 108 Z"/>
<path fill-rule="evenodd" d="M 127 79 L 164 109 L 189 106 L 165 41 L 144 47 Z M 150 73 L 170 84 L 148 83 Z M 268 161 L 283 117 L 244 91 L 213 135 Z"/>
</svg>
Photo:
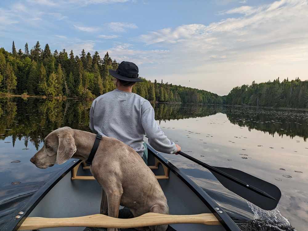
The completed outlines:
<svg viewBox="0 0 308 231">
<path fill-rule="evenodd" d="M 81 217 L 98 214 L 101 187 L 84 161 L 71 159 L 57 175 L 47 181 L 5 225 L 5 231 L 18 230 L 29 217 Z M 148 165 L 168 200 L 170 214 L 213 214 L 216 225 L 171 224 L 177 231 L 240 231 L 234 221 L 188 176 L 148 145 Z M 213 216 L 213 217 L 214 217 Z M 214 218 L 215 218 L 214 217 Z M 44 228 L 42 231 L 82 231 L 85 227 Z"/>
</svg>

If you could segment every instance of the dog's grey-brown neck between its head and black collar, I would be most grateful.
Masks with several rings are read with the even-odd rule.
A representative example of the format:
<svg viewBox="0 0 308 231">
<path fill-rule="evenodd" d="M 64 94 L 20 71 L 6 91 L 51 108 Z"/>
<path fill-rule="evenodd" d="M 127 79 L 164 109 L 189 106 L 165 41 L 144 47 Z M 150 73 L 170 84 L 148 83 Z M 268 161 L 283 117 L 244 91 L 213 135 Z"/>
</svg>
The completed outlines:
<svg viewBox="0 0 308 231">
<path fill-rule="evenodd" d="M 91 132 L 74 129 L 74 139 L 77 151 L 72 158 L 87 160 L 93 147 L 96 135 Z"/>
</svg>

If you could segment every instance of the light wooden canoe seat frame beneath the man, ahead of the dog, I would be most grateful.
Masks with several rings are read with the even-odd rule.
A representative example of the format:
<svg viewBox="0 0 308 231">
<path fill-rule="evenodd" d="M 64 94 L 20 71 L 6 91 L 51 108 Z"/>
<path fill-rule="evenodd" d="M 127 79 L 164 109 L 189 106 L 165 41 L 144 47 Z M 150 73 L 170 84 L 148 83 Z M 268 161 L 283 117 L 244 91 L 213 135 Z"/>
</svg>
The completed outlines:
<svg viewBox="0 0 308 231">
<path fill-rule="evenodd" d="M 155 159 L 155 165 L 153 166 L 148 166 L 150 169 L 158 169 L 158 165 L 161 164 L 164 169 L 164 175 L 161 176 L 156 176 L 157 180 L 162 180 L 162 179 L 169 179 L 169 168 L 165 166 L 163 163 L 160 162 L 156 157 Z M 86 164 L 86 162 L 83 160 L 79 164 L 77 164 L 73 169 L 72 169 L 72 178 L 71 180 L 95 180 L 93 176 L 77 176 L 77 171 L 79 168 L 79 165 L 83 164 L 83 170 L 85 169 L 90 169 L 90 166 Z"/>
</svg>

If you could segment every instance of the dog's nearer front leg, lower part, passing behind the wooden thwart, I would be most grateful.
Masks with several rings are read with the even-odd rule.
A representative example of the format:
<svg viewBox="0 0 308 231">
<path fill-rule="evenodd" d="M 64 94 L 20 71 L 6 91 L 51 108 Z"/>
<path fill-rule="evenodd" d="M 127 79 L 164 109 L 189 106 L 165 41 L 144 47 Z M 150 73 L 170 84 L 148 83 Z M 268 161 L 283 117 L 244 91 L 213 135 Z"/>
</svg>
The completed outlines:
<svg viewBox="0 0 308 231">
<path fill-rule="evenodd" d="M 123 194 L 122 190 L 116 190 L 116 191 L 109 191 L 106 192 L 107 194 L 107 201 L 108 201 L 108 216 L 109 217 L 119 217 L 119 207 L 120 207 L 120 201 Z M 117 228 L 108 228 L 108 231 L 118 231 Z"/>
</svg>

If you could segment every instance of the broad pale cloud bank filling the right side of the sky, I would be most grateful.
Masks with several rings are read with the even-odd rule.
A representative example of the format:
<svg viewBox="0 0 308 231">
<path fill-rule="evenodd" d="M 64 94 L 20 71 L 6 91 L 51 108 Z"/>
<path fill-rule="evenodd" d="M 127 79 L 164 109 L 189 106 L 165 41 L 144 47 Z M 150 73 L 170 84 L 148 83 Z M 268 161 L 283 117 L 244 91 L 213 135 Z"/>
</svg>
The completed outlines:
<svg viewBox="0 0 308 231">
<path fill-rule="evenodd" d="M 227 94 L 232 87 L 281 78 L 305 78 L 308 62 L 308 1 L 281 0 L 241 6 L 239 17 L 151 31 L 138 37 L 170 52 L 148 71 L 150 79 Z M 141 70 L 141 69 L 140 69 Z M 190 82 L 188 81 L 190 80 Z"/>
</svg>

